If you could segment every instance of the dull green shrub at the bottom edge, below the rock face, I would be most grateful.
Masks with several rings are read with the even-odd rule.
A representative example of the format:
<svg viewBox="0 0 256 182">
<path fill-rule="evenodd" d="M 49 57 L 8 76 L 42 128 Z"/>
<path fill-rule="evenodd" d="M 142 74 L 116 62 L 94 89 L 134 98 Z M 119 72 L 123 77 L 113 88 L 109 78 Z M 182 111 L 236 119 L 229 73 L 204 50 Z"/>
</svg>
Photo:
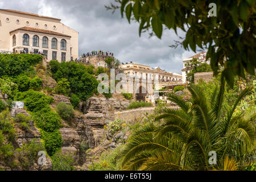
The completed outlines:
<svg viewBox="0 0 256 182">
<path fill-rule="evenodd" d="M 52 156 L 53 171 L 74 171 L 73 167 L 76 163 L 72 155 L 63 155 L 61 152 Z"/>
</svg>

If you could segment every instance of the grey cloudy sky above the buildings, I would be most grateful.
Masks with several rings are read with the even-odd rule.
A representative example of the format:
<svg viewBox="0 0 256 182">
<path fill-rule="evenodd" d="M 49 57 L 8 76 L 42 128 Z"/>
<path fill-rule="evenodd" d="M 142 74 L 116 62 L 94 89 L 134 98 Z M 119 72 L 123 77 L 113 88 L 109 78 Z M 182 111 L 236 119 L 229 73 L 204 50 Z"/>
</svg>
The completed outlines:
<svg viewBox="0 0 256 182">
<path fill-rule="evenodd" d="M 147 32 L 139 37 L 138 23 L 129 24 L 121 18 L 119 10 L 114 14 L 104 5 L 114 0 L 0 0 L 0 9 L 25 11 L 62 19 L 62 23 L 79 31 L 79 54 L 92 50 L 114 52 L 121 62 L 159 66 L 168 72 L 181 73 L 182 60 L 194 55 L 183 48 L 170 48 L 179 40 L 174 31 L 163 32 L 162 39 Z M 178 31 L 179 36 L 184 32 Z"/>
</svg>

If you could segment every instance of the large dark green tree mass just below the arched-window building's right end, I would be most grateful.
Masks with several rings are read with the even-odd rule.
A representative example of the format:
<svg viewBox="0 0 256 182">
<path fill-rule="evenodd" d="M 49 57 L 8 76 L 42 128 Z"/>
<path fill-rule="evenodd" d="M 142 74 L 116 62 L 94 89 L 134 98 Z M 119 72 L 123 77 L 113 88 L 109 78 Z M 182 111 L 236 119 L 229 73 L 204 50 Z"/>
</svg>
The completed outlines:
<svg viewBox="0 0 256 182">
<path fill-rule="evenodd" d="M 66 78 L 72 93 L 80 99 L 86 101 L 93 93 L 97 93 L 98 81 L 92 75 L 93 67 L 85 67 L 72 61 L 59 63 L 56 60 L 50 61 L 49 65 L 55 80 L 59 82 Z"/>
</svg>

